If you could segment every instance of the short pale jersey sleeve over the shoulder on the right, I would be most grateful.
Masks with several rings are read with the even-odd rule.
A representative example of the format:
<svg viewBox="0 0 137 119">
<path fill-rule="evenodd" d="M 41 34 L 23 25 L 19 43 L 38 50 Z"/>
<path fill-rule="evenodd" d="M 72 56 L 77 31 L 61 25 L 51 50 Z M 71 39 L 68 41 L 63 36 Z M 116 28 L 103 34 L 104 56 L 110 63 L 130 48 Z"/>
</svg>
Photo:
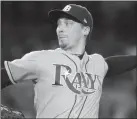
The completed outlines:
<svg viewBox="0 0 137 119">
<path fill-rule="evenodd" d="M 106 63 L 104 57 L 100 54 L 93 54 L 92 61 L 93 61 L 94 73 L 104 78 L 108 71 L 108 64 Z"/>
</svg>

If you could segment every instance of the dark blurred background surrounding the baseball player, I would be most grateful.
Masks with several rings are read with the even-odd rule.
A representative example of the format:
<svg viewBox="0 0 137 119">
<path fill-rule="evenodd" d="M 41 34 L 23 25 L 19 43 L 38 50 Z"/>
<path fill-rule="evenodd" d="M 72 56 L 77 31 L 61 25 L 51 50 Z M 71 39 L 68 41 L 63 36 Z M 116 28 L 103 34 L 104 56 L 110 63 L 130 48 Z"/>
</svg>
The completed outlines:
<svg viewBox="0 0 137 119">
<path fill-rule="evenodd" d="M 136 54 L 136 1 L 1 1 L 1 66 L 4 60 L 58 47 L 56 27 L 48 20 L 48 11 L 67 4 L 87 7 L 94 19 L 91 40 L 86 50 L 104 57 Z M 104 80 L 100 118 L 136 117 L 136 72 Z M 35 117 L 34 90 L 31 82 L 9 86 L 1 92 L 1 102 Z"/>
</svg>

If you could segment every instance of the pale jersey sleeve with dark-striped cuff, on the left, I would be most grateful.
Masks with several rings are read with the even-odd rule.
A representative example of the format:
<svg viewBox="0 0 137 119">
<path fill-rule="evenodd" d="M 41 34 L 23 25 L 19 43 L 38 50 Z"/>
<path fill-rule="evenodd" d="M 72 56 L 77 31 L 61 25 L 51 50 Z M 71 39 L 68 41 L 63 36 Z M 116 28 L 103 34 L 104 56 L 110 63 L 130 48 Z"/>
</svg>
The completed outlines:
<svg viewBox="0 0 137 119">
<path fill-rule="evenodd" d="M 25 80 L 36 80 L 38 78 L 38 54 L 38 51 L 34 51 L 24 55 L 21 59 L 4 61 L 5 69 L 13 84 Z"/>
</svg>

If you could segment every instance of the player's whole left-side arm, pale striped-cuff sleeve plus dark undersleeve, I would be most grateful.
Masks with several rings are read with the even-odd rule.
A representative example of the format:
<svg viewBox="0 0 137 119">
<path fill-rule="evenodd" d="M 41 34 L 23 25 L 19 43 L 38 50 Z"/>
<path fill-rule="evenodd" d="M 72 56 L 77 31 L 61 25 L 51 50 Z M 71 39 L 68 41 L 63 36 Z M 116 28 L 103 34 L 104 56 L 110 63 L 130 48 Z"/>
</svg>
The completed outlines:
<svg viewBox="0 0 137 119">
<path fill-rule="evenodd" d="M 14 61 L 4 61 L 4 68 L 1 69 L 1 88 L 11 84 L 38 78 L 38 66 L 35 56 L 37 53 L 30 53 Z"/>
</svg>

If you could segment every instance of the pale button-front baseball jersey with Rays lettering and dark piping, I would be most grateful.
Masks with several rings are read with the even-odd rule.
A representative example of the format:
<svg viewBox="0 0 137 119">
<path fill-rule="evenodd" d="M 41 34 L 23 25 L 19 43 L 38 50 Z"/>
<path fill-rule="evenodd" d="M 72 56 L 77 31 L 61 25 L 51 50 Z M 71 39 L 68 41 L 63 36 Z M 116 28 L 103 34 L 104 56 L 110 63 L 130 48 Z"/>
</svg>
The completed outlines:
<svg viewBox="0 0 137 119">
<path fill-rule="evenodd" d="M 33 81 L 36 118 L 98 118 L 108 70 L 101 55 L 85 52 L 79 59 L 57 48 L 33 51 L 4 64 L 13 84 Z"/>
</svg>

